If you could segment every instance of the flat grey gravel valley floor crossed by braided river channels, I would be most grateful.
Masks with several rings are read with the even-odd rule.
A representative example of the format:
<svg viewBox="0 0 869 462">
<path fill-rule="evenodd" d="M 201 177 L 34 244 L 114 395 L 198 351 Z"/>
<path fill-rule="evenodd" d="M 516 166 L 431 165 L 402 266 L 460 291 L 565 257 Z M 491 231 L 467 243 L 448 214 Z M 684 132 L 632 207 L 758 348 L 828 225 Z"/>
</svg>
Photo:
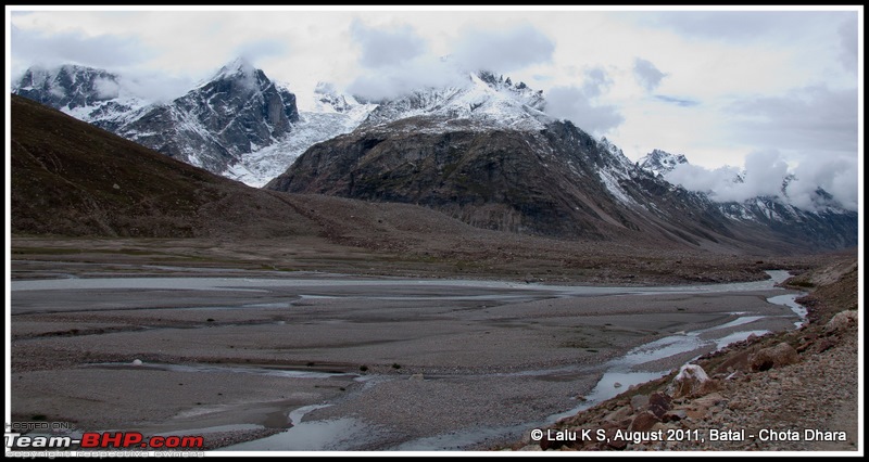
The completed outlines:
<svg viewBox="0 0 869 462">
<path fill-rule="evenodd" d="M 767 298 L 796 292 L 771 283 L 646 286 L 673 278 L 662 274 L 616 284 L 619 265 L 644 265 L 642 254 L 614 258 L 600 271 L 612 280 L 554 284 L 518 267 L 504 267 L 514 278 L 464 274 L 461 258 L 419 265 L 302 244 L 16 240 L 13 421 L 203 434 L 207 449 L 487 449 L 579 406 L 604 364 L 637 347 L 697 333 L 693 349 L 634 368 L 669 371 L 717 339 L 792 331 L 795 320 Z M 814 258 L 781 262 L 808 268 Z M 388 268 L 403 278 L 378 274 Z M 843 372 L 827 368 L 828 377 L 856 364 L 843 345 Z M 253 441 L 235 445 L 243 440 Z"/>
</svg>

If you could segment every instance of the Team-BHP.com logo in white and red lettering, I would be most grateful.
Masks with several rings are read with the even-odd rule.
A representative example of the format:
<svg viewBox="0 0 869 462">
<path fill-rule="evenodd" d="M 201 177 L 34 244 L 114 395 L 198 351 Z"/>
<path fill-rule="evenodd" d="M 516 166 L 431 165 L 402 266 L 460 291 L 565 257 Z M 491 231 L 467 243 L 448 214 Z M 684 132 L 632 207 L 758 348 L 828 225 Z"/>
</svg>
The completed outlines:
<svg viewBox="0 0 869 462">
<path fill-rule="evenodd" d="M 7 450 L 59 450 L 59 449 L 201 449 L 202 436 L 152 436 L 146 438 L 139 432 L 86 432 L 80 438 L 59 435 L 22 435 L 15 427 L 4 433 Z"/>
</svg>

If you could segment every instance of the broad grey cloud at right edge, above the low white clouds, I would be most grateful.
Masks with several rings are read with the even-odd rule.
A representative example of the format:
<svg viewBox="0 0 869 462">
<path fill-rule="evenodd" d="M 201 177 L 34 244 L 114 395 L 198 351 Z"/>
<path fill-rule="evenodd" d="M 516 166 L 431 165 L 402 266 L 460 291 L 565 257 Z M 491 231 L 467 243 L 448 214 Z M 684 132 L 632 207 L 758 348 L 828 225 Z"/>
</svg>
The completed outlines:
<svg viewBox="0 0 869 462">
<path fill-rule="evenodd" d="M 857 89 L 826 86 L 792 90 L 782 97 L 736 101 L 728 111 L 742 141 L 767 149 L 857 153 Z"/>
</svg>

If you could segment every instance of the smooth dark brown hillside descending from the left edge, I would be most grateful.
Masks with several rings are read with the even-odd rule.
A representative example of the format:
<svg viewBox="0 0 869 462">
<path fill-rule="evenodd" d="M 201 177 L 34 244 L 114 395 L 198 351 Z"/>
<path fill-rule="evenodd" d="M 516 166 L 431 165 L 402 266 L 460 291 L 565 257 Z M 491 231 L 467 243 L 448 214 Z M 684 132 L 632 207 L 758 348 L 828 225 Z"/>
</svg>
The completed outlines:
<svg viewBox="0 0 869 462">
<path fill-rule="evenodd" d="M 295 235 L 282 198 L 12 95 L 12 231 L 119 236 Z"/>
</svg>

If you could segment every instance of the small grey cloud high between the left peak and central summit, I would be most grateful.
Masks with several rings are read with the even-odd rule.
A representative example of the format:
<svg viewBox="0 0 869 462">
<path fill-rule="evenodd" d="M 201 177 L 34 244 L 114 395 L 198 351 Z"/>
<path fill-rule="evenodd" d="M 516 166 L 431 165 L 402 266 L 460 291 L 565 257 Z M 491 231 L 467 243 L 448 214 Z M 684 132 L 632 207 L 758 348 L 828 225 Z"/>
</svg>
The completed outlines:
<svg viewBox="0 0 869 462">
<path fill-rule="evenodd" d="M 428 48 L 410 25 L 373 28 L 355 20 L 350 25 L 350 34 L 362 47 L 361 64 L 368 68 L 402 64 L 419 56 Z"/>
</svg>

